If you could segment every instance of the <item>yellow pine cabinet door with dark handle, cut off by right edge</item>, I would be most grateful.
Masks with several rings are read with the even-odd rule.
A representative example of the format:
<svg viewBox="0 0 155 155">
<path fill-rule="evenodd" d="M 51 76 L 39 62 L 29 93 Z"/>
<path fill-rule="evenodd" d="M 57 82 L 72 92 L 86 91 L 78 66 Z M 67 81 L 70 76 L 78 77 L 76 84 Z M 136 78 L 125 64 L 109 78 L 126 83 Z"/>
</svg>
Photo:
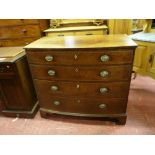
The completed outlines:
<svg viewBox="0 0 155 155">
<path fill-rule="evenodd" d="M 155 77 L 155 47 L 149 47 L 150 55 L 148 60 L 147 71 L 154 74 Z"/>
</svg>

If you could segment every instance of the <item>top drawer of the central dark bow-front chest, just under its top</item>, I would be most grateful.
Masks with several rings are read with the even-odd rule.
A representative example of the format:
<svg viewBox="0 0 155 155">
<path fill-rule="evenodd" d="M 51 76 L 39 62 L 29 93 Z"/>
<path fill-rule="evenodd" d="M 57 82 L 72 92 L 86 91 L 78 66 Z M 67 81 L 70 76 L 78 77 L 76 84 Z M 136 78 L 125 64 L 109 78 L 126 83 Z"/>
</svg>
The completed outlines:
<svg viewBox="0 0 155 155">
<path fill-rule="evenodd" d="M 117 51 L 28 51 L 29 63 L 46 65 L 102 65 L 130 64 L 133 60 L 132 50 Z"/>
</svg>

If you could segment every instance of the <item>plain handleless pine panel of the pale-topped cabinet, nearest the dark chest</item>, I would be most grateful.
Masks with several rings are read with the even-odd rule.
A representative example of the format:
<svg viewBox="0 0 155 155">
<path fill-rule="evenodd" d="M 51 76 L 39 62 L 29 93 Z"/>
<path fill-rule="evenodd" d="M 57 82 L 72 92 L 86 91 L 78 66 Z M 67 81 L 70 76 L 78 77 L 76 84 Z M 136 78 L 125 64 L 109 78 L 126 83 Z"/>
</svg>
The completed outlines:
<svg viewBox="0 0 155 155">
<path fill-rule="evenodd" d="M 146 50 L 147 50 L 147 47 L 145 46 L 138 46 L 136 48 L 135 56 L 134 56 L 134 65 L 133 65 L 134 71 L 145 68 L 145 63 L 147 62 L 145 61 Z"/>
</svg>

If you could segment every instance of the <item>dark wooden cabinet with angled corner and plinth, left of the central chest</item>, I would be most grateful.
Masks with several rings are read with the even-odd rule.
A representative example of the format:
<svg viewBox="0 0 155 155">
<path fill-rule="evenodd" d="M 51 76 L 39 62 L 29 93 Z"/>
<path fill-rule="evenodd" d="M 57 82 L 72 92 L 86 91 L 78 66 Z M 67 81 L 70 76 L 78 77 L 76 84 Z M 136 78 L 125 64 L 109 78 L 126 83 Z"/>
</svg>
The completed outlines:
<svg viewBox="0 0 155 155">
<path fill-rule="evenodd" d="M 6 116 L 33 117 L 36 93 L 22 47 L 0 48 L 0 107 Z"/>
</svg>

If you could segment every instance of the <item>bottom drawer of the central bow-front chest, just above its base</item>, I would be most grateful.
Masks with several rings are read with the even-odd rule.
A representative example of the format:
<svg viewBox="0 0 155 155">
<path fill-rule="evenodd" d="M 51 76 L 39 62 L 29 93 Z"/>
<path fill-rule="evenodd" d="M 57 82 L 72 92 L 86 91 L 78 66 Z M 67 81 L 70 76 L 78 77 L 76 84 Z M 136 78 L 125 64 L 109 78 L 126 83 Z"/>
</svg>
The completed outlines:
<svg viewBox="0 0 155 155">
<path fill-rule="evenodd" d="M 126 99 L 60 98 L 39 96 L 40 107 L 79 114 L 120 114 L 126 112 Z"/>
</svg>

